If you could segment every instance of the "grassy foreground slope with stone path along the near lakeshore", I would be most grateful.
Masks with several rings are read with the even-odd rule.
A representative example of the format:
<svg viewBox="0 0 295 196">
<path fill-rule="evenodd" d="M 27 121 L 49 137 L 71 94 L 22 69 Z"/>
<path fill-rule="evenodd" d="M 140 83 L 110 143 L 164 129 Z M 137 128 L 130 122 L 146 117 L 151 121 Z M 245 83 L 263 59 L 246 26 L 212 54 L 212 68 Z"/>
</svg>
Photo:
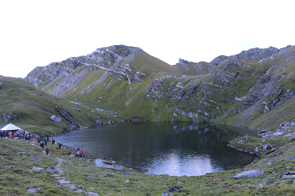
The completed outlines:
<svg viewBox="0 0 295 196">
<path fill-rule="evenodd" d="M 170 192 L 172 195 L 295 195 L 294 178 L 283 179 L 280 171 L 295 170 L 295 145 L 291 138 L 279 142 L 270 138 L 268 143 L 277 144 L 273 153 L 263 153 L 263 158 L 257 160 L 247 170 L 262 168 L 266 172 L 253 178 L 235 179 L 234 176 L 245 168 L 222 172 L 208 173 L 202 176 L 177 177 L 168 175 L 146 175 L 129 168 L 116 172 L 112 169 L 103 169 L 95 166 L 94 160 L 67 157 L 68 150 L 58 150 L 57 145 L 49 145 L 50 155 L 47 157 L 36 145 L 30 145 L 25 140 L 0 138 L 0 195 L 86 195 L 74 193 L 69 186 L 58 185 L 58 179 L 51 175 L 56 172 L 46 171 L 50 166 L 58 163 L 57 158 L 63 160 L 61 169 L 65 170 L 61 176 L 71 181 L 76 187 L 83 185 L 85 192 L 95 192 L 99 195 L 162 195 L 168 192 L 171 186 L 183 188 L 181 192 Z M 258 138 L 248 138 L 250 144 L 259 143 Z M 268 138 L 266 138 L 268 139 Z M 238 145 L 239 140 L 232 141 Z M 257 140 L 257 141 L 256 141 Z M 259 139 L 261 140 L 261 138 Z M 248 148 L 248 150 L 251 150 Z M 25 152 L 26 156 L 18 154 Z M 32 158 L 38 157 L 40 163 Z M 271 164 L 268 162 L 273 161 Z M 5 167 L 12 165 L 14 167 Z M 44 171 L 32 170 L 33 167 L 42 167 Z M 105 177 L 92 177 L 91 174 L 106 174 Z M 123 175 L 130 173 L 131 175 Z M 129 180 L 129 182 L 125 182 Z M 37 193 L 26 192 L 30 188 L 40 188 Z M 77 190 L 77 189 L 74 189 Z"/>
</svg>

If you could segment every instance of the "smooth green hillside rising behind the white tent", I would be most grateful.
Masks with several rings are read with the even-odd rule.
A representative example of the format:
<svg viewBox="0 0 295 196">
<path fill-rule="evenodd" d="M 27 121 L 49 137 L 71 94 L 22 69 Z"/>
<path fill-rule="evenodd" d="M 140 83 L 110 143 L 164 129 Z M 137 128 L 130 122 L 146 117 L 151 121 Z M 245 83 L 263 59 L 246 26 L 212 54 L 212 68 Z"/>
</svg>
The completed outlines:
<svg viewBox="0 0 295 196">
<path fill-rule="evenodd" d="M 80 126 L 96 124 L 96 120 L 108 122 L 114 120 L 110 115 L 76 105 L 63 98 L 50 95 L 40 89 L 32 87 L 29 82 L 22 78 L 11 78 L 1 76 L 2 89 L 0 89 L 0 113 L 6 116 L 17 115 L 18 120 L 10 119 L 4 123 L 0 119 L 1 128 L 9 122 L 17 125 L 24 130 L 29 130 L 32 134 L 50 135 L 58 132 L 78 128 L 68 123 L 68 121 L 54 108 L 68 111 L 72 115 L 73 122 Z M 35 96 L 34 96 L 35 95 Z M 77 111 L 81 109 L 81 111 Z M 91 112 L 94 110 L 94 113 Z M 62 118 L 61 122 L 55 122 L 50 116 Z M 99 116 L 99 118 L 97 118 Z"/>
</svg>

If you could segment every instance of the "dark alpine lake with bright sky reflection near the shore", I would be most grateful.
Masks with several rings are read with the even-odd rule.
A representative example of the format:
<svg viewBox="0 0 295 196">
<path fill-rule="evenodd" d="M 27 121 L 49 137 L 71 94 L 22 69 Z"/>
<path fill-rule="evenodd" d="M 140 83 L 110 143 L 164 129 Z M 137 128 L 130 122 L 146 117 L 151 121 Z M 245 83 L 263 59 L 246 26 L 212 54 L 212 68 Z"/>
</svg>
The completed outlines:
<svg viewBox="0 0 295 196">
<path fill-rule="evenodd" d="M 227 147 L 228 141 L 246 134 L 254 136 L 248 129 L 230 125 L 120 122 L 60 133 L 53 138 L 74 154 L 79 147 L 86 158 L 112 158 L 148 174 L 197 176 L 242 167 L 256 159 Z"/>
</svg>

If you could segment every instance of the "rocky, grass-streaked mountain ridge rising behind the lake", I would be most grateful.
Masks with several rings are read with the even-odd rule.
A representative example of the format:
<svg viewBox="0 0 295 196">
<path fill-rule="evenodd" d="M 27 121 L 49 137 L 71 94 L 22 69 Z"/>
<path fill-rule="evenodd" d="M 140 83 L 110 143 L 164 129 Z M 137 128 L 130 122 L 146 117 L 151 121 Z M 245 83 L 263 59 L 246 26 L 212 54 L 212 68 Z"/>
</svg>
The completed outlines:
<svg viewBox="0 0 295 196">
<path fill-rule="evenodd" d="M 210 63 L 179 59 L 170 66 L 140 48 L 110 46 L 37 67 L 25 79 L 73 102 L 116 111 L 121 120 L 238 120 L 253 127 L 254 119 L 295 95 L 294 49 L 252 48 Z"/>
</svg>

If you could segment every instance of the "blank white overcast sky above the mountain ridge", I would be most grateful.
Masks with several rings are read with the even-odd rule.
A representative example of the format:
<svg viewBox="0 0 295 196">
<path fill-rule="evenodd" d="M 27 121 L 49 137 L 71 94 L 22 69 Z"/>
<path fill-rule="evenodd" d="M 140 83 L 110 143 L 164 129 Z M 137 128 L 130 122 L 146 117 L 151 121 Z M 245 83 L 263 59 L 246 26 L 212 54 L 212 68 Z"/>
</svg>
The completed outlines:
<svg viewBox="0 0 295 196">
<path fill-rule="evenodd" d="M 295 1 L 1 1 L 0 75 L 112 45 L 171 65 L 295 45 Z"/>
</svg>

